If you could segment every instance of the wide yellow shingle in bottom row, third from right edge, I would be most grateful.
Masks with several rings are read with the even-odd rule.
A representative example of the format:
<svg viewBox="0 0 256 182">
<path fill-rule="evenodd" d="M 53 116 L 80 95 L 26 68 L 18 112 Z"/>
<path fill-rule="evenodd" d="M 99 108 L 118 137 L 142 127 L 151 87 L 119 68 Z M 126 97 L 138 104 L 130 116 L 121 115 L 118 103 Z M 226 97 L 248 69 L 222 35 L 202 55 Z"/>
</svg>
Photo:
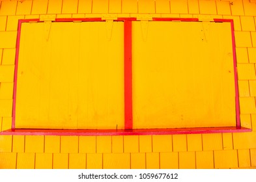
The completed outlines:
<svg viewBox="0 0 256 182">
<path fill-rule="evenodd" d="M 214 151 L 214 168 L 238 168 L 236 150 Z"/>
</svg>

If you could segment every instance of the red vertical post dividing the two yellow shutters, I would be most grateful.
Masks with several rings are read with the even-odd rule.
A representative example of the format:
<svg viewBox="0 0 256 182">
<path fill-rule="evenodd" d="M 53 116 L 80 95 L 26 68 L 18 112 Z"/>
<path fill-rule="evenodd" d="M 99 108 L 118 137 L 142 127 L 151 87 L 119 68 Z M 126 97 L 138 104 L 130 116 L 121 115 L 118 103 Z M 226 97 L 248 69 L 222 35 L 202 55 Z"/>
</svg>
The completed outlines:
<svg viewBox="0 0 256 182">
<path fill-rule="evenodd" d="M 132 21 L 124 20 L 124 128 L 132 129 Z"/>
</svg>

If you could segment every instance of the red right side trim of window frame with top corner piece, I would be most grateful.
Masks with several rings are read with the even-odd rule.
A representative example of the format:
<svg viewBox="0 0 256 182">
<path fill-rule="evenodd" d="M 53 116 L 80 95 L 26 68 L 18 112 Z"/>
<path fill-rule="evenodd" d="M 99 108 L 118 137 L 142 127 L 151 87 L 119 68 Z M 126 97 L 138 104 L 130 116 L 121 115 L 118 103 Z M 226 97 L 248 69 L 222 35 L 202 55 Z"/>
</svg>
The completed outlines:
<svg viewBox="0 0 256 182">
<path fill-rule="evenodd" d="M 233 19 L 214 19 L 214 21 L 215 22 L 230 22 L 231 23 L 233 62 L 234 62 L 233 65 L 234 65 L 234 76 L 235 76 L 236 127 L 241 127 L 238 76 L 237 76 L 237 67 L 236 67 L 236 42 L 235 42 L 234 21 L 233 21 Z"/>
</svg>

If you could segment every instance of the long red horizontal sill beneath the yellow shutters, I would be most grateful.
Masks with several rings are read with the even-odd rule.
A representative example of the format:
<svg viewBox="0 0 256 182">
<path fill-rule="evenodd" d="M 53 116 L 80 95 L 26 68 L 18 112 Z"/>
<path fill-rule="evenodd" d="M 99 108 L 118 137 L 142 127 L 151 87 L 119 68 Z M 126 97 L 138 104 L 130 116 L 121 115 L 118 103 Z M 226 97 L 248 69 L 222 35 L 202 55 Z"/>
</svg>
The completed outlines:
<svg viewBox="0 0 256 182">
<path fill-rule="evenodd" d="M 57 136 L 107 136 L 107 135 L 179 135 L 199 133 L 250 132 L 246 127 L 201 127 L 177 129 L 9 129 L 1 135 L 57 135 Z"/>
</svg>

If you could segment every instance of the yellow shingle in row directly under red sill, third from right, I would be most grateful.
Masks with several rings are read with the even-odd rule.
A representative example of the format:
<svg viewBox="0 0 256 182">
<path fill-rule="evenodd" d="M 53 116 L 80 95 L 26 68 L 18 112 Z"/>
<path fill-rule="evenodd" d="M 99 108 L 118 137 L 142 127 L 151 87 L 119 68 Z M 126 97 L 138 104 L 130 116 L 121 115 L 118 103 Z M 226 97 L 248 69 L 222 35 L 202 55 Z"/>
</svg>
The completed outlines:
<svg viewBox="0 0 256 182">
<path fill-rule="evenodd" d="M 222 135 L 221 133 L 203 134 L 203 150 L 221 150 L 222 147 Z"/>
</svg>

